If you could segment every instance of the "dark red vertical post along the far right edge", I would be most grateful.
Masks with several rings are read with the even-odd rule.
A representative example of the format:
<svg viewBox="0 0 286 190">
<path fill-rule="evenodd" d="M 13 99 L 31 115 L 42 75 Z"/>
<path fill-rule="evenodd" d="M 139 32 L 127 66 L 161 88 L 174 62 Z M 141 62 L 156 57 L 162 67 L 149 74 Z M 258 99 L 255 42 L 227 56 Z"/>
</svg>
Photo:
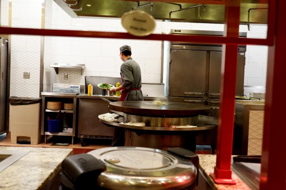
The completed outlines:
<svg viewBox="0 0 286 190">
<path fill-rule="evenodd" d="M 261 190 L 286 189 L 286 125 L 285 122 L 281 122 L 286 113 L 286 102 L 281 101 L 281 95 L 286 94 L 285 6 L 285 0 L 277 1 L 274 45 L 268 50 L 260 175 Z"/>
</svg>

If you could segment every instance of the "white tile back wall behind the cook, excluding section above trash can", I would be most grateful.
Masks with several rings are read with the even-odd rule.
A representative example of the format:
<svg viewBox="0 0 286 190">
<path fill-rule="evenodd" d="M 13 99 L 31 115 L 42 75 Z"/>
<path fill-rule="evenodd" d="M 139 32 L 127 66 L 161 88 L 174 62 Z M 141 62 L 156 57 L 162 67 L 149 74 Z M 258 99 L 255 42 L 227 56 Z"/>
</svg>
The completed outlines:
<svg viewBox="0 0 286 190">
<path fill-rule="evenodd" d="M 53 4 L 52 8 L 52 24 L 57 29 L 127 32 L 122 28 L 120 19 L 72 19 L 68 18 L 66 13 L 56 4 Z M 61 17 L 63 19 L 57 19 Z M 240 31 L 248 32 L 249 38 L 266 37 L 267 26 L 252 25 L 251 27 L 251 31 L 248 31 L 247 26 L 240 26 Z M 156 21 L 154 33 L 161 34 L 162 32 L 168 32 L 170 29 L 223 31 L 223 28 L 222 24 Z M 142 74 L 146 74 L 142 75 L 142 81 L 160 82 L 161 41 L 57 37 L 55 40 L 52 39 L 52 49 L 54 49 L 52 55 L 55 55 L 55 61 L 58 63 L 83 63 L 85 61 L 86 72 L 100 72 L 100 76 L 117 76 L 122 64 L 119 59 L 118 49 L 124 44 L 131 46 L 133 59 L 139 63 Z M 70 54 L 69 46 L 71 46 Z M 266 72 L 266 66 L 263 66 L 263 64 L 267 63 L 267 48 L 264 46 L 249 46 L 245 57 L 245 85 L 263 85 L 265 81 L 263 80 L 265 78 L 264 73 Z M 107 69 L 108 71 L 106 71 Z M 73 75 L 75 74 L 71 74 L 71 80 L 73 80 Z M 251 79 L 248 80 L 248 77 L 251 77 Z M 82 82 L 82 80 L 83 77 L 74 78 L 74 81 Z"/>
</svg>

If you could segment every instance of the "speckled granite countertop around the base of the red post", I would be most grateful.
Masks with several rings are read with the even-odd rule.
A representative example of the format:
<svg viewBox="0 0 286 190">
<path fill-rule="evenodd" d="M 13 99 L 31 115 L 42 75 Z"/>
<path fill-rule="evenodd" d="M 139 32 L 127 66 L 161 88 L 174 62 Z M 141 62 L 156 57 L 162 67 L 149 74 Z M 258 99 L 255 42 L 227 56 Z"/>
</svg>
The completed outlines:
<svg viewBox="0 0 286 190">
<path fill-rule="evenodd" d="M 232 172 L 232 179 L 236 181 L 236 185 L 219 185 L 216 184 L 210 177 L 210 173 L 214 172 L 217 155 L 211 154 L 198 154 L 200 160 L 200 169 L 203 171 L 206 179 L 209 181 L 212 189 L 218 190 L 232 190 L 232 189 L 243 189 L 250 190 L 250 188 L 234 173 Z"/>
</svg>

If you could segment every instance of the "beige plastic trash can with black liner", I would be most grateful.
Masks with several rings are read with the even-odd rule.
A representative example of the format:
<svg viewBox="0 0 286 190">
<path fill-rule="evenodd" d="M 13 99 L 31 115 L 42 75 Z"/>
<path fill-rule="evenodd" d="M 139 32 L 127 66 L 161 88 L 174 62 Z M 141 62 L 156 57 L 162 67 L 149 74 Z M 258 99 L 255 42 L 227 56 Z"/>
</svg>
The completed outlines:
<svg viewBox="0 0 286 190">
<path fill-rule="evenodd" d="M 11 143 L 41 143 L 41 98 L 10 97 Z"/>
</svg>

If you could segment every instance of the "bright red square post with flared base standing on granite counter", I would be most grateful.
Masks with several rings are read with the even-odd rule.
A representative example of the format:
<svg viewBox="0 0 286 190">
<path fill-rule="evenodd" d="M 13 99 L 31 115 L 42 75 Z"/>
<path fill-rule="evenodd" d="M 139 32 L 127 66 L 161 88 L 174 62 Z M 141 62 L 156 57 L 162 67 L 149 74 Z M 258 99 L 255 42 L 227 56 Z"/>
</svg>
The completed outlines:
<svg viewBox="0 0 286 190">
<path fill-rule="evenodd" d="M 240 1 L 229 0 L 225 7 L 225 36 L 238 37 Z M 217 132 L 217 161 L 211 177 L 218 184 L 236 184 L 231 178 L 231 154 L 237 71 L 237 45 L 223 45 L 220 83 L 220 110 Z"/>
</svg>

